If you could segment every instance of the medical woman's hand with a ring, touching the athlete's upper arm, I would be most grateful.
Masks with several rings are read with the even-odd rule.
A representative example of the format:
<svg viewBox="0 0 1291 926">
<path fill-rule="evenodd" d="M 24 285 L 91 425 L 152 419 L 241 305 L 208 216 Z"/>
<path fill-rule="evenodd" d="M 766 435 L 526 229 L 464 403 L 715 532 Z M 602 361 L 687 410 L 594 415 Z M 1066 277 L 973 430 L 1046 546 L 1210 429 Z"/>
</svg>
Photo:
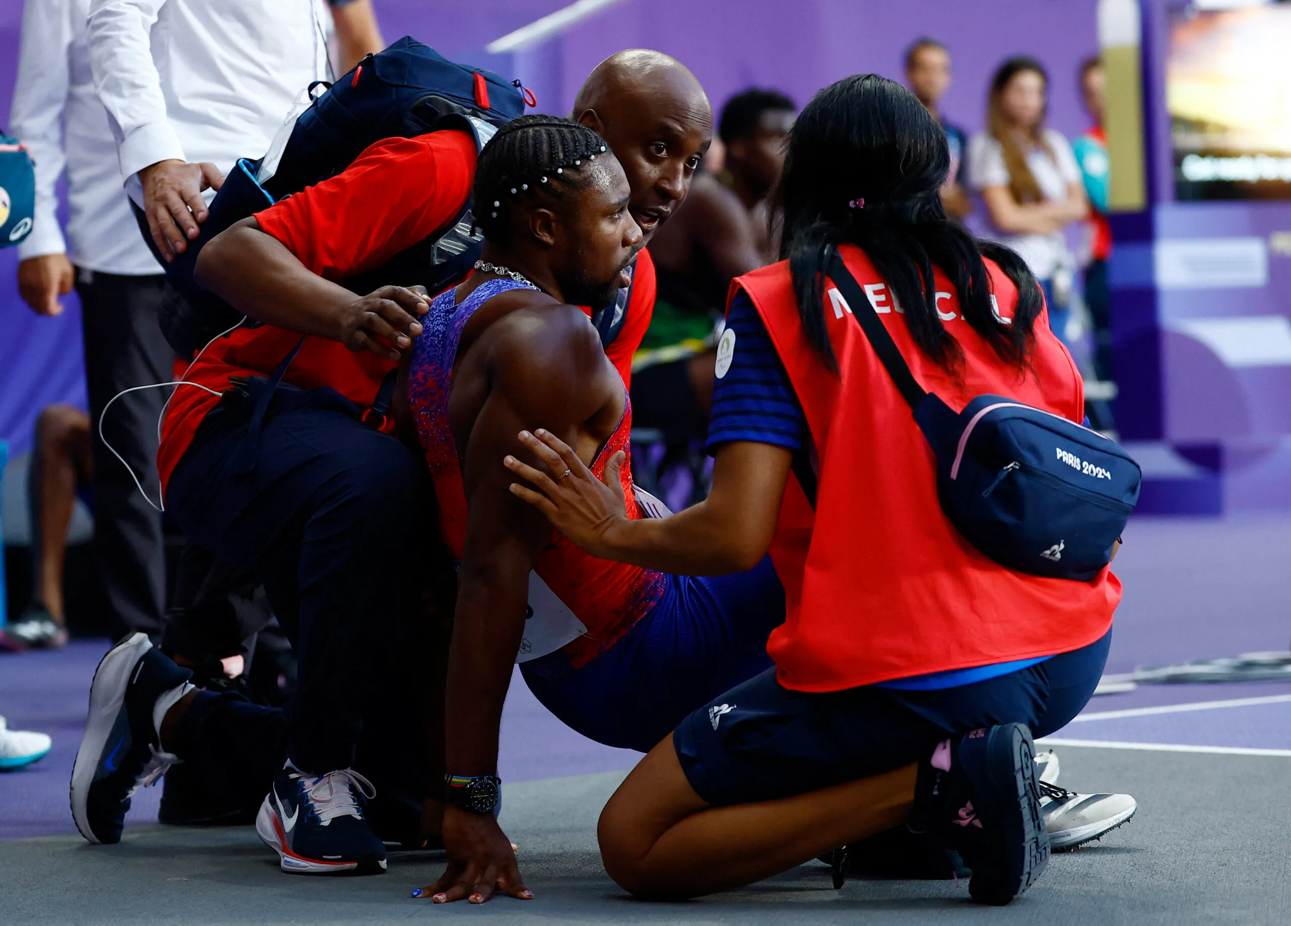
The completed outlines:
<svg viewBox="0 0 1291 926">
<path fill-rule="evenodd" d="M 544 469 L 534 469 L 515 457 L 506 457 L 506 468 L 538 491 L 511 483 L 511 492 L 545 515 L 569 540 L 594 557 L 609 557 L 609 533 L 627 520 L 627 504 L 618 469 L 624 452 L 618 451 L 605 464 L 604 482 L 591 474 L 569 444 L 550 431 L 520 431 L 520 443 L 533 451 Z"/>
</svg>

